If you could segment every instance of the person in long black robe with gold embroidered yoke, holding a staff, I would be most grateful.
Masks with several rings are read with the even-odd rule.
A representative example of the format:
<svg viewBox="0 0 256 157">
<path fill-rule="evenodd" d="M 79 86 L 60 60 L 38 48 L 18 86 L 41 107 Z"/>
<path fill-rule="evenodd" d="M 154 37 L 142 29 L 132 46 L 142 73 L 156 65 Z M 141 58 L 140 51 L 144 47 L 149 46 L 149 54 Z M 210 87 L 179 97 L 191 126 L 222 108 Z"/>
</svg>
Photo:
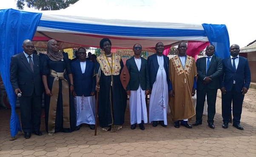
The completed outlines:
<svg viewBox="0 0 256 157">
<path fill-rule="evenodd" d="M 127 95 L 120 81 L 124 66 L 121 56 L 111 53 L 111 41 L 103 38 L 100 48 L 105 53 L 97 57 L 95 72 L 97 80 L 100 77 L 98 115 L 102 132 L 115 132 L 122 128 L 125 118 Z"/>
</svg>

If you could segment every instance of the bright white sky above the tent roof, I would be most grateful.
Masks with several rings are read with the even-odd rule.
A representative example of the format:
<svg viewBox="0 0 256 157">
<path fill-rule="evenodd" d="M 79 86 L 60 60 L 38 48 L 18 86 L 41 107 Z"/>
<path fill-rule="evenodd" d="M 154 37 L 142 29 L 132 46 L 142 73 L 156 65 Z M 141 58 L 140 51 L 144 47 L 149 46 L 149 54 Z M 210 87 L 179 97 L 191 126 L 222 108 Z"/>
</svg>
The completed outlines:
<svg viewBox="0 0 256 157">
<path fill-rule="evenodd" d="M 101 1 L 109 4 L 121 3 L 122 0 Z M 88 3 L 90 2 L 92 1 L 88 0 Z M 168 18 L 168 22 L 170 19 L 175 22 L 183 19 L 183 23 L 225 24 L 228 28 L 230 45 L 238 44 L 240 48 L 256 39 L 254 0 L 162 0 L 164 5 L 159 3 L 159 0 L 127 0 L 127 2 L 125 3 L 127 7 L 134 7 L 136 4 L 147 4 L 152 9 L 162 7 L 163 12 L 169 11 L 170 14 L 163 14 L 161 20 Z M 0 4 L 0 9 L 16 9 L 15 0 L 0 0 Z M 25 10 L 33 11 L 34 9 L 26 7 Z M 150 20 L 150 16 L 145 19 Z"/>
</svg>

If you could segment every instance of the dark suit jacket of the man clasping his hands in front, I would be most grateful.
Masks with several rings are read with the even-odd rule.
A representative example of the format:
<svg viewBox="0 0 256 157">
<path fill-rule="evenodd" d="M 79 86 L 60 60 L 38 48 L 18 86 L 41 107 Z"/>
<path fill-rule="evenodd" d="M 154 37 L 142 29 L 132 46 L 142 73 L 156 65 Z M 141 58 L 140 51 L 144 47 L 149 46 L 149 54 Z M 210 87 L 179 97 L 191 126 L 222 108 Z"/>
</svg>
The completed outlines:
<svg viewBox="0 0 256 157">
<path fill-rule="evenodd" d="M 209 89 L 219 89 L 219 77 L 222 76 L 222 59 L 216 56 L 212 56 L 210 64 L 206 74 L 206 59 L 205 57 L 199 58 L 196 60 L 197 68 L 197 90 L 202 90 L 204 86 L 207 86 Z M 213 80 L 210 83 L 204 85 L 202 84 L 204 78 L 210 76 Z"/>
</svg>

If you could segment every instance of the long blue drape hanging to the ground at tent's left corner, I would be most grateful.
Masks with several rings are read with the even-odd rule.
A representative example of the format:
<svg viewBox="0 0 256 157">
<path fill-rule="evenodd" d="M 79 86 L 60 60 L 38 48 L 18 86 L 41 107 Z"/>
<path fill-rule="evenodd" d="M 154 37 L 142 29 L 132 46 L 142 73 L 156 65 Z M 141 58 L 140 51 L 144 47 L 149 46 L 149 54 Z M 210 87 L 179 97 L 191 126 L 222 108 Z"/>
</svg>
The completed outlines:
<svg viewBox="0 0 256 157">
<path fill-rule="evenodd" d="M 25 39 L 32 40 L 42 13 L 31 13 L 14 9 L 0 10 L 0 73 L 11 104 L 11 137 L 21 131 L 20 121 L 15 112 L 16 95 L 10 82 L 11 56 L 23 51 Z"/>
</svg>

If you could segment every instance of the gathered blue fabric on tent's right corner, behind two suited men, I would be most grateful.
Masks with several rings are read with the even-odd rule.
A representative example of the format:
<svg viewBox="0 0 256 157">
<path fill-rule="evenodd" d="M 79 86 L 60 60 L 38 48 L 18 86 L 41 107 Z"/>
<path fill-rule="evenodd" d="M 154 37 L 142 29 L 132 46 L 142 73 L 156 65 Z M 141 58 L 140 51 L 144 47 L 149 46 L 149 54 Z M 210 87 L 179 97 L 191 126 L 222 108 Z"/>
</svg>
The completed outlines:
<svg viewBox="0 0 256 157">
<path fill-rule="evenodd" d="M 221 59 L 230 56 L 229 53 L 229 36 L 226 25 L 202 24 L 209 42 L 215 46 L 215 55 Z"/>
</svg>

